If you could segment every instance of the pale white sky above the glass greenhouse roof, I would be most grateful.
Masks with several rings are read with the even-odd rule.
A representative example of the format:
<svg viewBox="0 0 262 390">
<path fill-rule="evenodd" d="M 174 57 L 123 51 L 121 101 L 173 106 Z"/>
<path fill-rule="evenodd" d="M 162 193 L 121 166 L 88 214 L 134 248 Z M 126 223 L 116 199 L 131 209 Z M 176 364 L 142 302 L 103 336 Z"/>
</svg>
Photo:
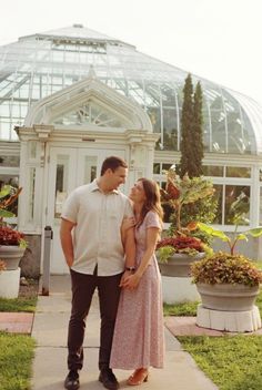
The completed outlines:
<svg viewBox="0 0 262 390">
<path fill-rule="evenodd" d="M 261 0 L 0 0 L 0 45 L 81 23 L 262 106 Z"/>
</svg>

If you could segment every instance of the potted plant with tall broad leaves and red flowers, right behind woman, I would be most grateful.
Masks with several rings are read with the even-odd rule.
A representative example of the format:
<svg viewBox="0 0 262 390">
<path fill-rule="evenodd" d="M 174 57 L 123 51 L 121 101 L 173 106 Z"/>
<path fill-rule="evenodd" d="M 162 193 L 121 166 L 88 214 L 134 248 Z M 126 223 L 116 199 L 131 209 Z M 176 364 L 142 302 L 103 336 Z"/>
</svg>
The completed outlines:
<svg viewBox="0 0 262 390">
<path fill-rule="evenodd" d="M 157 246 L 159 266 L 163 276 L 189 277 L 190 264 L 212 252 L 203 239 L 192 234 L 196 225 L 189 223 L 183 227 L 181 216 L 183 207 L 211 197 L 213 193 L 213 184 L 210 181 L 202 177 L 190 178 L 188 175 L 180 178 L 172 168 L 167 172 L 167 187 L 161 191 L 161 198 L 173 209 L 175 222 L 171 225 L 168 237 L 163 237 Z"/>
</svg>

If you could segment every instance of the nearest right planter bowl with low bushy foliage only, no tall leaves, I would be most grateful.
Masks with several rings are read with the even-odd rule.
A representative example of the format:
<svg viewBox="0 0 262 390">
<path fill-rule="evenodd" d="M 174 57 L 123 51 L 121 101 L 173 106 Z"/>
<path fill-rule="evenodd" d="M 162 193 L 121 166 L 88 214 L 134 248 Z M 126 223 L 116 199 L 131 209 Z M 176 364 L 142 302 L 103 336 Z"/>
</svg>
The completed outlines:
<svg viewBox="0 0 262 390">
<path fill-rule="evenodd" d="M 202 306 L 212 310 L 252 310 L 262 273 L 243 255 L 219 252 L 191 265 Z"/>
</svg>

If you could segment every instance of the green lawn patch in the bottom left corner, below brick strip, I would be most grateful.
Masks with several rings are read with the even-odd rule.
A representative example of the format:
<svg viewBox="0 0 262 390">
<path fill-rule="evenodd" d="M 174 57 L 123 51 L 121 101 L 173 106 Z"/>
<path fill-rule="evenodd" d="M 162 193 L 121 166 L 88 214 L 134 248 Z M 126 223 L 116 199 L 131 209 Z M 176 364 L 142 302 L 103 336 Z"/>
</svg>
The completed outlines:
<svg viewBox="0 0 262 390">
<path fill-rule="evenodd" d="M 30 389 L 34 340 L 0 332 L 0 390 Z"/>
</svg>

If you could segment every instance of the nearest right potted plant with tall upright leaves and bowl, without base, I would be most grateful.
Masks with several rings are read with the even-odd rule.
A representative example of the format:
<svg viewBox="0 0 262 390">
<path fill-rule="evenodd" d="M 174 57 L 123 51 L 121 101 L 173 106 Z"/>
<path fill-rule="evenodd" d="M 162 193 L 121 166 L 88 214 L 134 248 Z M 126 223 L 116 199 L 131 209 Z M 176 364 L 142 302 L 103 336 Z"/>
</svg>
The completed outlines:
<svg viewBox="0 0 262 390">
<path fill-rule="evenodd" d="M 260 227 L 238 233 L 240 223 L 245 222 L 246 208 L 242 207 L 242 204 L 244 205 L 243 198 L 238 198 L 231 209 L 236 211 L 233 217 L 235 224 L 233 237 L 203 223 L 195 224 L 196 228 L 229 245 L 229 253 L 219 252 L 191 265 L 193 283 L 196 284 L 202 306 L 205 308 L 225 311 L 251 310 L 259 294 L 262 283 L 261 270 L 248 257 L 235 254 L 239 240 L 262 235 Z"/>
</svg>

